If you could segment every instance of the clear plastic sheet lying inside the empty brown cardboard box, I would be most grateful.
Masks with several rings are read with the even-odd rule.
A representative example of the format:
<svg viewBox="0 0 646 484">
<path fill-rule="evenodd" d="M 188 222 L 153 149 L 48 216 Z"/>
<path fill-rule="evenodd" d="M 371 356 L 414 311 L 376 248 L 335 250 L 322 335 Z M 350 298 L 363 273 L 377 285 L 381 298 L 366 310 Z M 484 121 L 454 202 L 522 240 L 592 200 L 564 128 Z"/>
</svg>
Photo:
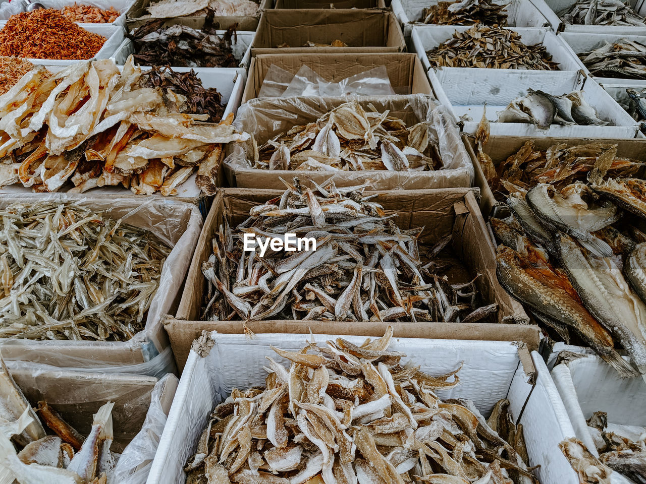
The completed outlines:
<svg viewBox="0 0 646 484">
<path fill-rule="evenodd" d="M 393 96 L 396 93 L 390 84 L 386 66 L 375 67 L 333 83 L 326 81 L 306 65 L 296 74 L 291 74 L 272 64 L 262 81 L 258 97 L 337 97 L 350 94 Z"/>
</svg>

